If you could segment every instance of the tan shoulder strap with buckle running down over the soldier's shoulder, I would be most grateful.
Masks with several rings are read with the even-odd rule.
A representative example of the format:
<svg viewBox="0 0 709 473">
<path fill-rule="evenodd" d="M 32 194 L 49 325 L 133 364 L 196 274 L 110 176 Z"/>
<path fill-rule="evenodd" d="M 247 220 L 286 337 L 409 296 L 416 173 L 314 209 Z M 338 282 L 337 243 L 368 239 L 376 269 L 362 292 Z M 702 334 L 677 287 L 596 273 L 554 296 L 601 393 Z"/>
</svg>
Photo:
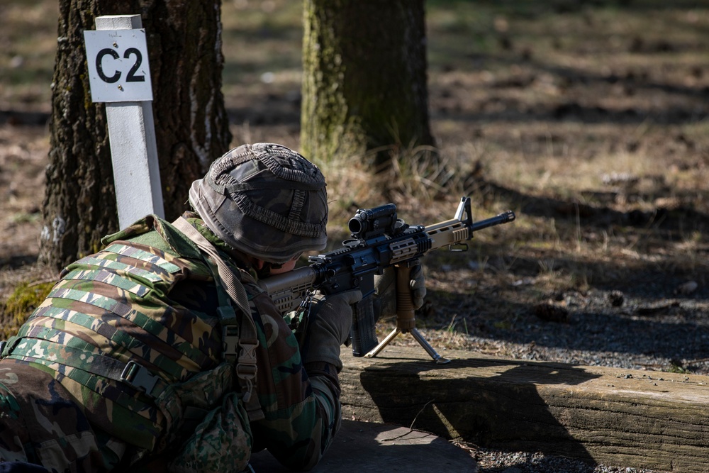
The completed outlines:
<svg viewBox="0 0 709 473">
<path fill-rule="evenodd" d="M 227 291 L 227 294 L 229 294 L 230 298 L 243 313 L 241 318 L 243 323 L 240 327 L 235 328 L 233 325 L 222 324 L 224 352 L 225 355 L 230 355 L 229 351 L 235 349 L 233 343 L 230 343 L 230 339 L 233 339 L 235 334 L 238 333 L 238 345 L 241 350 L 236 363 L 236 375 L 244 395 L 244 404 L 249 413 L 250 421 L 262 419 L 264 418 L 264 413 L 259 404 L 259 397 L 255 396 L 253 392 L 257 372 L 256 348 L 259 345 L 259 340 L 256 331 L 256 323 L 251 316 L 251 308 L 246 289 L 244 289 L 243 284 L 241 284 L 240 279 L 233 269 L 222 260 L 216 248 L 199 233 L 199 230 L 191 226 L 190 223 L 182 217 L 179 217 L 172 224 L 199 246 L 199 248 L 216 263 L 219 271 L 219 279 L 225 291 Z M 227 323 L 227 321 L 223 322 Z"/>
</svg>

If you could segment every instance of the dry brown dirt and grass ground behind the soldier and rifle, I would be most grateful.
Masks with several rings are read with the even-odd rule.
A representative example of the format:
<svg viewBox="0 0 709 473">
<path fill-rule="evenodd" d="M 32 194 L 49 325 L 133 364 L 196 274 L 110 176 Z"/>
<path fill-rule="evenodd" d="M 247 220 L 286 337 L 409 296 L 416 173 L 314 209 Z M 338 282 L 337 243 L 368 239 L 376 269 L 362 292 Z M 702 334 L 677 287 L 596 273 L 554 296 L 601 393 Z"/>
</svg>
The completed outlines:
<svg viewBox="0 0 709 473">
<path fill-rule="evenodd" d="M 265 4 L 284 5 L 225 2 L 225 36 Z M 510 208 L 518 219 L 481 231 L 468 252 L 425 258 L 425 336 L 438 350 L 709 374 L 709 4 L 428 4 L 443 164 L 410 170 L 394 195 L 400 216 L 446 220 L 464 194 L 476 218 Z M 228 62 L 256 40 L 298 54 L 299 18 L 269 18 Z M 297 148 L 297 60 L 232 69 L 233 143 Z M 48 104 L 45 89 L 0 89 L 0 301 L 19 281 L 54 277 L 36 264 Z M 366 179 L 324 170 L 335 200 L 384 204 L 362 197 Z"/>
</svg>

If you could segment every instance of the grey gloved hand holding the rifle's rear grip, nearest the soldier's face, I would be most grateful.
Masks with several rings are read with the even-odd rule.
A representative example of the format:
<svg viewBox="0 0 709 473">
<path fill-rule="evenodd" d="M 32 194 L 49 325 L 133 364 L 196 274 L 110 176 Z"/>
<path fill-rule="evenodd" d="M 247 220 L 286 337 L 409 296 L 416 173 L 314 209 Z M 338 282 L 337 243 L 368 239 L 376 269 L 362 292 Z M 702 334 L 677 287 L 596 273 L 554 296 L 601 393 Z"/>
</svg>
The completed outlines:
<svg viewBox="0 0 709 473">
<path fill-rule="evenodd" d="M 352 304 L 361 300 L 362 292 L 357 290 L 325 297 L 316 296 L 308 317 L 296 329 L 296 337 L 302 340 L 303 365 L 325 362 L 335 366 L 337 372 L 340 372 L 340 345 L 350 337 Z"/>
</svg>

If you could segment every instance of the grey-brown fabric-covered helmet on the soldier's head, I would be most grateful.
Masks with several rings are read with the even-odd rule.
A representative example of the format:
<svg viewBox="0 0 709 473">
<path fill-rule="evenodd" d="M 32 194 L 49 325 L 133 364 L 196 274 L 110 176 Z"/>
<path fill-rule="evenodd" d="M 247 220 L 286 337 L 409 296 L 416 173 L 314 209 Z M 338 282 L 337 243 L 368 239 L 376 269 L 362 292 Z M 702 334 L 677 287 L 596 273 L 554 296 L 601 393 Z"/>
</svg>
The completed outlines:
<svg viewBox="0 0 709 473">
<path fill-rule="evenodd" d="M 241 145 L 212 163 L 189 201 L 221 240 L 259 260 L 284 263 L 322 250 L 328 193 L 320 169 L 274 143 Z"/>
</svg>

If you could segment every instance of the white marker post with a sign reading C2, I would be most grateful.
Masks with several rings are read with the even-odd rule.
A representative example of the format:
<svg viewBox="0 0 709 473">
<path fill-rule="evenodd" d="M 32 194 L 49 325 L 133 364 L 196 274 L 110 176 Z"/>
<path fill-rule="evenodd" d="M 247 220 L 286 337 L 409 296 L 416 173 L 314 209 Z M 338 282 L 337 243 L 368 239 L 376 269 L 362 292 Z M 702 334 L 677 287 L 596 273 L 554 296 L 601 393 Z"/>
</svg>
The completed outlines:
<svg viewBox="0 0 709 473">
<path fill-rule="evenodd" d="M 84 31 L 91 100 L 106 102 L 118 225 L 164 217 L 147 41 L 140 15 L 96 17 Z"/>
</svg>

